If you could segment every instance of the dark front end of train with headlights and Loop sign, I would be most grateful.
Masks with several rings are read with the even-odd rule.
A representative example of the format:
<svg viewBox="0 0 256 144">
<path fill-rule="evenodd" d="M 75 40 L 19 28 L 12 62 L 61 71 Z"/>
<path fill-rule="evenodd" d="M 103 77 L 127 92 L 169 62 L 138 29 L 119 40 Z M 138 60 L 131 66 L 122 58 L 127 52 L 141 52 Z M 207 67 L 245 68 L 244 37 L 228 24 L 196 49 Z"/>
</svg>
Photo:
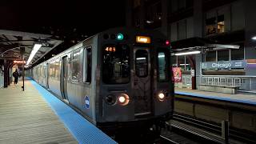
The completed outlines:
<svg viewBox="0 0 256 144">
<path fill-rule="evenodd" d="M 150 126 L 170 119 L 170 42 L 156 31 L 112 29 L 98 35 L 98 126 Z"/>
</svg>

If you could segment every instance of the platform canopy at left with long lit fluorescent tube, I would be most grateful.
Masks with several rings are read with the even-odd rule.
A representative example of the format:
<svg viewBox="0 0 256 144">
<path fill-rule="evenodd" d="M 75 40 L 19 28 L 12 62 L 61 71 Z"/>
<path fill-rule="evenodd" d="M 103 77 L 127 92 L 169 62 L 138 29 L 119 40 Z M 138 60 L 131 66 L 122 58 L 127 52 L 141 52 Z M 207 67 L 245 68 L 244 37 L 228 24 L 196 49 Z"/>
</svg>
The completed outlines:
<svg viewBox="0 0 256 144">
<path fill-rule="evenodd" d="M 33 34 L 12 30 L 0 30 L 0 59 L 22 60 L 20 48 L 24 47 L 24 60 L 30 57 L 34 43 L 41 43 L 42 47 L 34 55 L 31 64 L 37 62 L 45 54 L 62 43 L 62 40 L 49 34 Z"/>
</svg>

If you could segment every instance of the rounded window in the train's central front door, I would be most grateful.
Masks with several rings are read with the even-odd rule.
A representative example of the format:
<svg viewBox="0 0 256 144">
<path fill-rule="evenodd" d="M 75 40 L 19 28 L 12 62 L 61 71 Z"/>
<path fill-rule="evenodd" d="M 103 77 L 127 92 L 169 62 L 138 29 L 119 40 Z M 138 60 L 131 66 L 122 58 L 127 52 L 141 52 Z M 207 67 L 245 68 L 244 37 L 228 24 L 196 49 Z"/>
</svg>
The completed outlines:
<svg viewBox="0 0 256 144">
<path fill-rule="evenodd" d="M 135 54 L 135 73 L 138 77 L 148 74 L 148 54 L 146 50 L 137 50 Z"/>
</svg>

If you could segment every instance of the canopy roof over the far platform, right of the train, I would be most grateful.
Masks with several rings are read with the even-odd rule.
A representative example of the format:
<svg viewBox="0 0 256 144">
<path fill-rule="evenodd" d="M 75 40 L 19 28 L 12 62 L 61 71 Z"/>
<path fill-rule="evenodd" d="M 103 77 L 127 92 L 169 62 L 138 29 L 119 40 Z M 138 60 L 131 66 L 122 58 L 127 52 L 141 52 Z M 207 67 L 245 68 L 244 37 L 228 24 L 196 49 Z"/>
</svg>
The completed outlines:
<svg viewBox="0 0 256 144">
<path fill-rule="evenodd" d="M 171 50 L 187 51 L 187 50 L 224 50 L 239 49 L 239 45 L 225 45 L 210 41 L 206 38 L 186 38 L 175 42 L 170 42 Z"/>
</svg>

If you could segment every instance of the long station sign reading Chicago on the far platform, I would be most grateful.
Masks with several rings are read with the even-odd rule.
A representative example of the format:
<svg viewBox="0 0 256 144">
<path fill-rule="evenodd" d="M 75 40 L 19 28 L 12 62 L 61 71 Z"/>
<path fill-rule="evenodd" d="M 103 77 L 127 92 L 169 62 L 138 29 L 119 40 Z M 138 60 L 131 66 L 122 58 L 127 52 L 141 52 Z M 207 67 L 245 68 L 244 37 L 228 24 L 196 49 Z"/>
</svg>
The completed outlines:
<svg viewBox="0 0 256 144">
<path fill-rule="evenodd" d="M 236 69 L 246 68 L 246 60 L 201 62 L 201 69 Z"/>
</svg>

